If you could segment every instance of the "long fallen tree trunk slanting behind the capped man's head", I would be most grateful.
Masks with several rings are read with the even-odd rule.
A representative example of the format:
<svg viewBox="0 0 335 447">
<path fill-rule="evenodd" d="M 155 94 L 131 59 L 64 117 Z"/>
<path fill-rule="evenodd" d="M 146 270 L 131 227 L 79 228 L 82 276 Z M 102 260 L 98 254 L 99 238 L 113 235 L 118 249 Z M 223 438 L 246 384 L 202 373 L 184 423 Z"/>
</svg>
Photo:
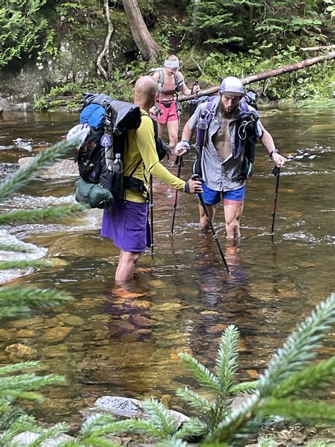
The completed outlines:
<svg viewBox="0 0 335 447">
<path fill-rule="evenodd" d="M 259 74 L 250 74 L 249 76 L 242 78 L 241 81 L 243 84 L 257 82 L 257 81 L 261 81 L 262 79 L 267 79 L 267 78 L 271 78 L 273 76 L 278 76 L 279 74 L 284 74 L 284 73 L 289 73 L 290 71 L 297 71 L 300 69 L 304 69 L 306 66 L 319 64 L 319 62 L 324 62 L 324 61 L 327 61 L 329 59 L 334 59 L 334 58 L 335 58 L 335 51 L 324 54 L 323 56 L 312 57 L 311 59 L 305 59 L 301 62 L 295 62 L 295 64 L 284 65 L 284 66 L 279 67 L 278 69 L 264 71 L 263 73 L 259 73 Z M 180 95 L 178 97 L 178 101 L 180 101 L 180 102 L 187 101 L 187 100 L 197 98 L 202 95 L 213 95 L 213 93 L 216 93 L 219 90 L 220 90 L 220 86 L 206 88 L 205 90 L 201 90 L 201 91 L 197 92 L 197 94 L 194 94 L 194 95 L 189 95 L 189 96 Z"/>
</svg>

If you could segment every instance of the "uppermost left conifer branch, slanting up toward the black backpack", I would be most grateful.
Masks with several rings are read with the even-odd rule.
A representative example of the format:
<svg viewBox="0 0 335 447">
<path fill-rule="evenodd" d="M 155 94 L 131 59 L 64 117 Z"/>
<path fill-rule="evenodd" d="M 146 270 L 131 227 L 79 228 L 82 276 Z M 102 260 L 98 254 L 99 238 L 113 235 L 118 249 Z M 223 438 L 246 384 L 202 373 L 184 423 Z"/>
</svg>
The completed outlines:
<svg viewBox="0 0 335 447">
<path fill-rule="evenodd" d="M 11 177 L 6 178 L 4 182 L 0 184 L 0 202 L 12 195 L 14 192 L 22 189 L 28 183 L 33 180 L 40 171 L 46 166 L 52 165 L 58 158 L 65 156 L 66 153 L 74 151 L 80 144 L 77 139 L 71 139 L 69 141 L 60 141 L 54 144 L 49 149 L 41 151 L 34 160 L 26 166 L 24 169 L 18 170 Z"/>
</svg>

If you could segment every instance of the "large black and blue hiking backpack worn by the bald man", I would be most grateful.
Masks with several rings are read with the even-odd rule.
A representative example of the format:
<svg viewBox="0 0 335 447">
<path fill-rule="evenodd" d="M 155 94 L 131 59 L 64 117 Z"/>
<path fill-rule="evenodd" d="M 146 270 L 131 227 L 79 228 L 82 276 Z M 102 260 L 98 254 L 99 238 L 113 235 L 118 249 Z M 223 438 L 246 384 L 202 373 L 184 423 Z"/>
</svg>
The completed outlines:
<svg viewBox="0 0 335 447">
<path fill-rule="evenodd" d="M 122 197 L 124 189 L 143 191 L 142 180 L 124 176 L 123 169 L 114 170 L 116 154 L 120 154 L 121 166 L 124 161 L 124 149 L 127 148 L 127 131 L 137 129 L 141 124 L 141 109 L 138 105 L 124 101 L 112 100 L 110 96 L 97 93 L 84 93 L 83 110 L 80 115 L 80 123 L 88 125 L 90 132 L 76 151 L 75 162 L 78 163 L 79 174 L 83 180 L 78 187 L 82 187 L 83 193 L 76 197 L 87 196 L 90 185 L 100 185 L 113 195 Z M 157 124 L 153 123 L 156 150 L 159 160 L 168 153 L 167 145 L 158 137 Z M 139 165 L 138 165 L 139 166 Z M 137 168 L 137 167 L 136 167 Z M 80 180 L 79 180 L 80 181 Z M 95 192 L 102 193 L 101 188 L 95 188 Z M 104 195 L 103 197 L 105 197 Z M 88 202 L 91 207 L 98 207 L 97 199 L 81 200 Z M 93 203 L 91 203 L 93 202 Z M 103 207 L 103 203 L 100 203 Z"/>
</svg>

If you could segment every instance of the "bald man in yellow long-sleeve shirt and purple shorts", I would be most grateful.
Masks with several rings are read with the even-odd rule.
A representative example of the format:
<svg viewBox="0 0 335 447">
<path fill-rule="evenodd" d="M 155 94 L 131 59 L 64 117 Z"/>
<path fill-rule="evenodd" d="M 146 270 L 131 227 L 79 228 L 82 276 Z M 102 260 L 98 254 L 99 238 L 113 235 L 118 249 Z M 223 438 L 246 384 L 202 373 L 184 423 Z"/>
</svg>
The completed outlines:
<svg viewBox="0 0 335 447">
<path fill-rule="evenodd" d="M 141 125 L 129 130 L 127 149 L 124 151 L 124 177 L 135 179 L 132 184 L 141 184 L 136 189 L 129 182 L 124 197 L 115 197 L 110 209 L 105 209 L 102 218 L 101 236 L 112 238 L 119 248 L 119 263 L 115 281 L 124 283 L 134 278 L 135 265 L 141 253 L 150 247 L 150 228 L 148 225 L 148 180 L 150 174 L 165 185 L 176 190 L 195 194 L 202 192 L 201 182 L 184 182 L 170 173 L 158 160 L 155 149 L 153 121 L 148 115 L 155 103 L 158 83 L 151 76 L 143 76 L 136 81 L 133 89 L 134 104 L 142 112 Z"/>
</svg>

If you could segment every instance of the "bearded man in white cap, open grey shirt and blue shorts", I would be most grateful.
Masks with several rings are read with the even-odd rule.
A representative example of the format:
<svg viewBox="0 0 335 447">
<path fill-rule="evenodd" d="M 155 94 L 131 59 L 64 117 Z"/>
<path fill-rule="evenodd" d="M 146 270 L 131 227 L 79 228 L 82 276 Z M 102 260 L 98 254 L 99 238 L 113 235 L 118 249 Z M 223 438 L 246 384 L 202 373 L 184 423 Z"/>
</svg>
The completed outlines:
<svg viewBox="0 0 335 447">
<path fill-rule="evenodd" d="M 240 119 L 242 116 L 243 119 L 246 117 L 245 120 Z M 251 125 L 246 127 L 248 116 Z M 284 166 L 286 158 L 276 149 L 274 139 L 258 119 L 257 110 L 246 103 L 242 82 L 235 76 L 223 79 L 218 96 L 200 104 L 187 121 L 182 141 L 175 148 L 178 156 L 189 152 L 189 141 L 201 120 L 206 120 L 207 125 L 199 162 L 204 190 L 202 196 L 212 221 L 216 206 L 222 200 L 227 238 L 237 239 L 241 236 L 240 220 L 245 201 L 245 180 L 248 178 L 243 174 L 247 142 L 255 143 L 258 137 L 278 167 Z M 253 134 L 247 134 L 247 129 L 251 129 L 249 133 Z M 199 214 L 199 228 L 207 229 L 208 220 L 200 203 Z"/>
</svg>

